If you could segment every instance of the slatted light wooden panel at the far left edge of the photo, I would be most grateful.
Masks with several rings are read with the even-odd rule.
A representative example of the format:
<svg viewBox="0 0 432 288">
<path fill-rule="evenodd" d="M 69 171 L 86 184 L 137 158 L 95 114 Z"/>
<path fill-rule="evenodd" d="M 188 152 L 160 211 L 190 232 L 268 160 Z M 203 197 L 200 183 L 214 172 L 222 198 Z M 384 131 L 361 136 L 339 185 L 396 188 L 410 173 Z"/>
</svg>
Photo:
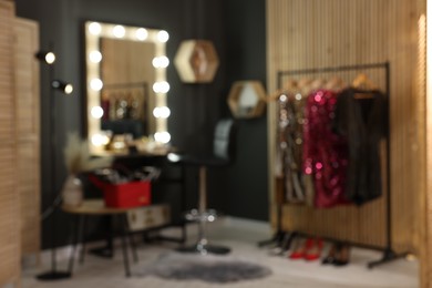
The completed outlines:
<svg viewBox="0 0 432 288">
<path fill-rule="evenodd" d="M 12 2 L 0 1 L 0 287 L 20 286 L 20 205 L 17 193 Z"/>
</svg>

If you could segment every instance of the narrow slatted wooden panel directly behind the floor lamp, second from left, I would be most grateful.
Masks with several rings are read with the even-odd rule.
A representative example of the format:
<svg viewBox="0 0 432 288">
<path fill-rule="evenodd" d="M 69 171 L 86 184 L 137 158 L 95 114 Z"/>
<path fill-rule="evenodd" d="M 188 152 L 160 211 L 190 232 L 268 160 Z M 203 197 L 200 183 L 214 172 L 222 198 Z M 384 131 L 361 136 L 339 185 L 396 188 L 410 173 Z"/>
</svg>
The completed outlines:
<svg viewBox="0 0 432 288">
<path fill-rule="evenodd" d="M 21 249 L 24 257 L 39 258 L 40 218 L 40 92 L 39 25 L 28 19 L 14 20 L 14 73 L 17 101 L 18 174 L 21 198 Z M 34 263 L 34 260 L 33 260 Z"/>
</svg>

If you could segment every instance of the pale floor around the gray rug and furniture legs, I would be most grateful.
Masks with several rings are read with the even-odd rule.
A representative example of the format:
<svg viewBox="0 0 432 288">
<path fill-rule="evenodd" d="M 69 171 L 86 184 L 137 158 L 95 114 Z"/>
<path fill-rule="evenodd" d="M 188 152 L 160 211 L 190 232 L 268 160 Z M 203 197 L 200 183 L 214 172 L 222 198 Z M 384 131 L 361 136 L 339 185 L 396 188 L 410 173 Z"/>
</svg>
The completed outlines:
<svg viewBox="0 0 432 288">
<path fill-rule="evenodd" d="M 189 239 L 194 240 L 195 226 L 189 227 Z M 176 232 L 165 232 L 168 234 Z M 367 264 L 379 259 L 382 254 L 374 250 L 353 248 L 350 264 L 346 267 L 323 266 L 320 261 L 290 260 L 287 256 L 271 256 L 268 248 L 258 248 L 257 243 L 270 236 L 267 224 L 227 218 L 213 224 L 209 238 L 216 244 L 233 248 L 232 255 L 265 265 L 272 270 L 269 277 L 235 284 L 215 285 L 199 280 L 164 280 L 153 276 L 124 276 L 120 248 L 114 259 L 103 259 L 86 255 L 83 265 L 75 265 L 73 277 L 66 280 L 40 281 L 35 275 L 50 269 L 50 254 L 44 253 L 42 265 L 23 271 L 23 288 L 207 288 L 207 287 L 247 287 L 247 288 L 416 288 L 419 287 L 419 265 L 415 260 L 398 259 L 385 265 L 368 269 Z M 177 244 L 142 244 L 138 246 L 140 265 L 156 259 L 162 253 L 172 250 Z M 326 250 L 323 255 L 326 255 Z M 58 253 L 59 270 L 65 269 L 68 250 Z M 132 265 L 136 269 L 136 264 Z"/>
</svg>

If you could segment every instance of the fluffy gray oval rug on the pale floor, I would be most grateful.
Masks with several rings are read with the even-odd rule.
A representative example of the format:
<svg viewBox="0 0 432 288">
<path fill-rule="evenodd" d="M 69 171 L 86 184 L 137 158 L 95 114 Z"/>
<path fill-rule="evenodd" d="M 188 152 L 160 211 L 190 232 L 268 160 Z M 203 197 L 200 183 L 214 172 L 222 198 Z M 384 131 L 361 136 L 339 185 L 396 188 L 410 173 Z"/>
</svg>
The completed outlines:
<svg viewBox="0 0 432 288">
<path fill-rule="evenodd" d="M 144 267 L 136 267 L 134 276 L 156 276 L 172 280 L 203 280 L 226 284 L 253 280 L 271 275 L 271 270 L 250 260 L 234 256 L 166 253 Z"/>
</svg>

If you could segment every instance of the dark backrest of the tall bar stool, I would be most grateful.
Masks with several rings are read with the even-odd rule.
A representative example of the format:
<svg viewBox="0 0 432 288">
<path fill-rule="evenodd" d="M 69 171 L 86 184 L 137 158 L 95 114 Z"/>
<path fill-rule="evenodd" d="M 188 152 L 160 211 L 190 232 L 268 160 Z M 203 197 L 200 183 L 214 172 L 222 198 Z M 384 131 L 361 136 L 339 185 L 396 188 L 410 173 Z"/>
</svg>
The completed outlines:
<svg viewBox="0 0 432 288">
<path fill-rule="evenodd" d="M 219 120 L 215 127 L 213 153 L 214 156 L 232 161 L 235 153 L 235 122 L 233 119 Z"/>
</svg>

